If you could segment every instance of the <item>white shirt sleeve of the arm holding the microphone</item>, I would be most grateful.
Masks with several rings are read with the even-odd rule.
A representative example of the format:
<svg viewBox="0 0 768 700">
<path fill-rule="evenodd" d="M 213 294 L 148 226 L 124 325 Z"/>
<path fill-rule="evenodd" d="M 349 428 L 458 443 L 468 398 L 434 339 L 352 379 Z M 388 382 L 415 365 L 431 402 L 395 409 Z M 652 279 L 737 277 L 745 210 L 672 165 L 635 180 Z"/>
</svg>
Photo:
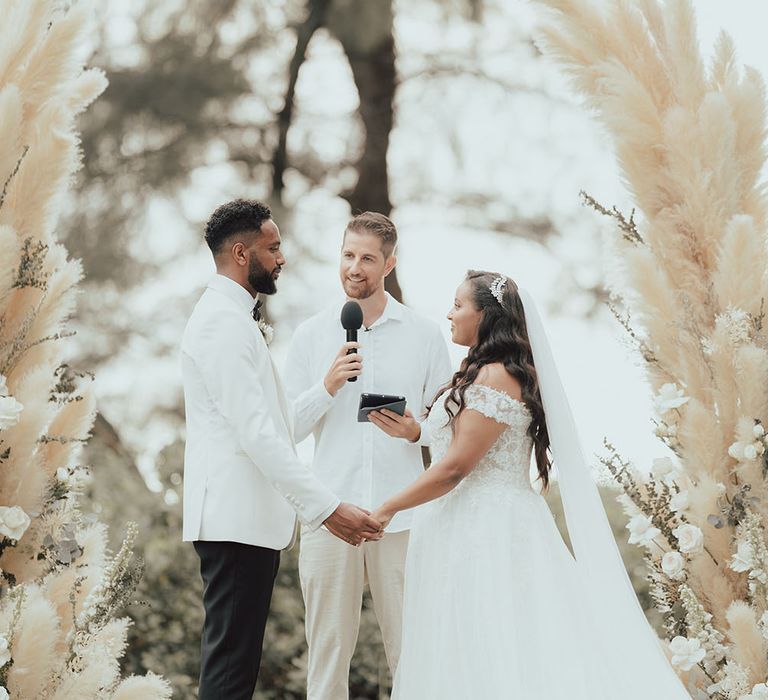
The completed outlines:
<svg viewBox="0 0 768 700">
<path fill-rule="evenodd" d="M 325 375 L 320 378 L 312 375 L 308 353 L 312 350 L 312 339 L 308 336 L 307 329 L 301 326 L 293 334 L 283 374 L 285 391 L 293 406 L 296 442 L 304 440 L 315 429 L 334 398 L 325 388 Z"/>
</svg>

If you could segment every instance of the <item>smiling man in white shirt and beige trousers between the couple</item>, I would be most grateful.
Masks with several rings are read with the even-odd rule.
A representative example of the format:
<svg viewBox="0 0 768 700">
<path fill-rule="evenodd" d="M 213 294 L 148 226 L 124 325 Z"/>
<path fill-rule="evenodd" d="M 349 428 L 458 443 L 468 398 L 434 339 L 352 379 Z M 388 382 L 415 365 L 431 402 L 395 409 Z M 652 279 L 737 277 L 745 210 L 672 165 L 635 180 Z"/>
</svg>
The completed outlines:
<svg viewBox="0 0 768 700">
<path fill-rule="evenodd" d="M 397 263 L 396 246 L 395 225 L 383 214 L 365 212 L 349 222 L 339 265 L 345 298 L 298 327 L 285 371 L 296 439 L 314 434 L 314 473 L 342 500 L 367 509 L 423 470 L 421 446 L 429 444 L 429 435 L 415 416 L 424 415 L 451 378 L 438 325 L 385 291 L 384 280 Z M 339 316 L 349 300 L 360 304 L 363 326 L 359 342 L 342 345 Z M 348 381 L 352 377 L 356 381 Z M 404 396 L 406 413 L 380 412 L 371 422 L 358 423 L 361 393 Z M 359 547 L 324 528 L 302 530 L 299 576 L 309 644 L 308 700 L 349 697 L 349 666 L 366 582 L 394 676 L 410 522 L 410 512 L 400 513 L 382 540 Z"/>
</svg>

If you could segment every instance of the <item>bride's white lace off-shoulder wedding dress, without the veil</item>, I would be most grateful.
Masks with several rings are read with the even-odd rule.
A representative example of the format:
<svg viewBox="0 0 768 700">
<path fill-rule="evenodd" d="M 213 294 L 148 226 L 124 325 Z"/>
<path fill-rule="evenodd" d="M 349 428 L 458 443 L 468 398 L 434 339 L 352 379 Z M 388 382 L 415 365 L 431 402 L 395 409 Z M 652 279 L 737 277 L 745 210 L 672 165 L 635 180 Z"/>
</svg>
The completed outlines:
<svg viewBox="0 0 768 700">
<path fill-rule="evenodd" d="M 621 631 L 593 629 L 575 561 L 531 487 L 528 409 L 483 385 L 465 401 L 508 427 L 453 491 L 416 512 L 393 700 L 634 697 L 632 679 L 601 663 Z M 428 420 L 437 462 L 451 441 L 444 403 Z"/>
</svg>

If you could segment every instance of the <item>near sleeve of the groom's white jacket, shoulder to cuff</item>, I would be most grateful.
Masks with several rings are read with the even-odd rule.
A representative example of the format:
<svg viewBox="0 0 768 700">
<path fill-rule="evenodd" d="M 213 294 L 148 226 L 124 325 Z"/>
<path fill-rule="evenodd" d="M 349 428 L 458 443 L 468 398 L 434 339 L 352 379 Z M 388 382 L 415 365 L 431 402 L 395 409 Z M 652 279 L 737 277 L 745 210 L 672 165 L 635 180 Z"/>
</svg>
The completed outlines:
<svg viewBox="0 0 768 700">
<path fill-rule="evenodd" d="M 266 345 L 236 316 L 219 320 L 204 344 L 206 360 L 198 362 L 203 381 L 240 447 L 310 528 L 319 527 L 340 501 L 305 467 L 290 441 L 282 437 L 259 381 L 270 363 Z M 271 371 L 271 368 L 269 368 Z"/>
</svg>

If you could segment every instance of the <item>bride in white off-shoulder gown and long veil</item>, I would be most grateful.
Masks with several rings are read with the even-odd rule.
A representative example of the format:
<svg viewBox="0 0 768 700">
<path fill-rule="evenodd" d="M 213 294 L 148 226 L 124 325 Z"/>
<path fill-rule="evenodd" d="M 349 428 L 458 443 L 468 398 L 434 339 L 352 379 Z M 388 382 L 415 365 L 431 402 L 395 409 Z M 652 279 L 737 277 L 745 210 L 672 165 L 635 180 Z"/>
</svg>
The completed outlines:
<svg viewBox="0 0 768 700">
<path fill-rule="evenodd" d="M 469 346 L 433 403 L 433 464 L 373 514 L 416 511 L 393 700 L 688 700 L 645 620 L 530 297 L 470 271 Z M 557 470 L 571 555 L 531 487 Z M 552 455 L 550 462 L 549 454 Z"/>
</svg>

